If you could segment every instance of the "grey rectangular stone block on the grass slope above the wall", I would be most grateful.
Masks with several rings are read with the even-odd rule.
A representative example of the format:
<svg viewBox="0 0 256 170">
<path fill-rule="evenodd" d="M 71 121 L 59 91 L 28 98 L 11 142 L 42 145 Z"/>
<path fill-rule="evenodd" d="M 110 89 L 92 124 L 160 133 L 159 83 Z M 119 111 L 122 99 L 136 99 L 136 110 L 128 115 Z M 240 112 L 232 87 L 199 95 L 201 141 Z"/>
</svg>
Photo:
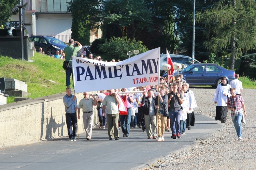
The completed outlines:
<svg viewBox="0 0 256 170">
<path fill-rule="evenodd" d="M 17 79 L 5 79 L 5 90 L 22 90 L 27 92 L 27 84 Z"/>
</svg>

